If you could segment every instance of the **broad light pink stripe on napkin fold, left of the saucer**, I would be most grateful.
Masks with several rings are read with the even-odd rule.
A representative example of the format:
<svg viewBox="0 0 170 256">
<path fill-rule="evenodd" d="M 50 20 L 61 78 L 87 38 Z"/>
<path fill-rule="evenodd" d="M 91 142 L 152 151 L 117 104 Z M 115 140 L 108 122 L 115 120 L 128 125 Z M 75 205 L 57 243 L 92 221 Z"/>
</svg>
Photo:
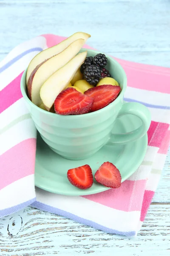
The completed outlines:
<svg viewBox="0 0 170 256">
<path fill-rule="evenodd" d="M 0 189 L 34 174 L 36 139 L 24 140 L 0 156 Z"/>
</svg>

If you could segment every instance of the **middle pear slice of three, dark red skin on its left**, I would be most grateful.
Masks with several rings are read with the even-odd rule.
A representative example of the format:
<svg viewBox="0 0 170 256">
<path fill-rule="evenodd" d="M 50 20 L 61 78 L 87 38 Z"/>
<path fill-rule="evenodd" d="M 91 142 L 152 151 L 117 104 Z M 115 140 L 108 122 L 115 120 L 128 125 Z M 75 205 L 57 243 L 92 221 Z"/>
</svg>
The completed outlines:
<svg viewBox="0 0 170 256">
<path fill-rule="evenodd" d="M 40 89 L 42 84 L 57 70 L 63 67 L 79 52 L 85 43 L 84 39 L 78 39 L 70 44 L 64 51 L 43 61 L 32 71 L 27 85 L 28 98 L 35 104 L 40 105 Z"/>
</svg>

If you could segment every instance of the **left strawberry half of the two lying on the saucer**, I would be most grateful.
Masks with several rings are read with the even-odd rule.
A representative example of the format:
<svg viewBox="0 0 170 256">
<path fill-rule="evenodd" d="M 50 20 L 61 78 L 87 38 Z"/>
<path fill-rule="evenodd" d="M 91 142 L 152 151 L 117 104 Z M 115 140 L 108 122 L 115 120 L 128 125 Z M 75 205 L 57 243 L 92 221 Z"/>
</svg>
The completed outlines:
<svg viewBox="0 0 170 256">
<path fill-rule="evenodd" d="M 93 174 L 88 164 L 68 170 L 67 177 L 79 189 L 89 189 L 93 185 Z"/>
</svg>

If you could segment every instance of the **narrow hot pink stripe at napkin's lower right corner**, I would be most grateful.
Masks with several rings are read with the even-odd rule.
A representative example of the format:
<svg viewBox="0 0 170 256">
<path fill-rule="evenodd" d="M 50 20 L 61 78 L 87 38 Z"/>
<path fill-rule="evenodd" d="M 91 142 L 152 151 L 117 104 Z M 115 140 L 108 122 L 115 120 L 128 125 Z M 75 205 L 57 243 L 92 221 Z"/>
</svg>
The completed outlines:
<svg viewBox="0 0 170 256">
<path fill-rule="evenodd" d="M 151 190 L 145 190 L 144 192 L 144 197 L 143 197 L 143 203 L 142 203 L 142 210 L 141 210 L 141 216 L 140 216 L 140 221 L 144 221 L 147 210 L 149 209 L 149 206 L 151 204 L 153 195 L 155 194 L 154 191 Z"/>
</svg>

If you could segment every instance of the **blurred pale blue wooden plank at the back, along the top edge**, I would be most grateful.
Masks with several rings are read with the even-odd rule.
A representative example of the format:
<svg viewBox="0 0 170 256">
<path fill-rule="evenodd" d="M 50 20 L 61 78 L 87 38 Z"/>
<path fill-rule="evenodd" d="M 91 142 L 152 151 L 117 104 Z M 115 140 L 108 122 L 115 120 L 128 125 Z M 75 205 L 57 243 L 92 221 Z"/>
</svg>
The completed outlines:
<svg viewBox="0 0 170 256">
<path fill-rule="evenodd" d="M 161 4 L 155 1 L 152 8 L 146 8 L 147 1 L 96 3 L 3 1 L 0 3 L 0 24 L 4 24 L 0 31 L 0 49 L 9 52 L 21 42 L 45 32 L 68 36 L 78 30 L 88 30 L 92 35 L 88 43 L 96 49 L 110 54 L 131 52 L 131 55 L 160 51 L 163 54 L 160 53 L 158 60 L 153 56 L 153 64 L 158 65 L 161 58 L 160 63 L 163 64 L 164 59 L 167 65 L 170 60 L 166 54 L 170 51 L 168 1 Z"/>
</svg>

